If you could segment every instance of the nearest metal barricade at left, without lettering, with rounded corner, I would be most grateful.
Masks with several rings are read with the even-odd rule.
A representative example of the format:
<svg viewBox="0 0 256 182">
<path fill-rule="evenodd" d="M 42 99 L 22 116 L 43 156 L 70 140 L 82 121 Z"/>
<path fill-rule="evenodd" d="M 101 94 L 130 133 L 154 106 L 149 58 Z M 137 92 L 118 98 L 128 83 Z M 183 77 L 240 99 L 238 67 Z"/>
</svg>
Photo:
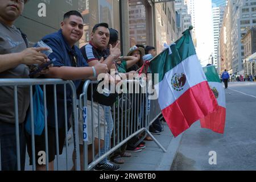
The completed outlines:
<svg viewBox="0 0 256 182">
<path fill-rule="evenodd" d="M 46 147 L 46 151 L 43 151 L 46 155 L 46 159 L 44 159 L 46 161 L 46 170 L 49 170 L 49 151 L 48 151 L 48 122 L 47 122 L 47 86 L 51 85 L 53 86 L 53 100 L 54 100 L 54 109 L 55 109 L 55 140 L 56 140 L 56 160 L 55 160 L 55 169 L 56 170 L 69 170 L 69 164 L 68 164 L 68 158 L 69 158 L 69 154 L 72 155 L 71 152 L 68 151 L 68 121 L 69 118 L 67 118 L 67 87 L 71 88 L 71 102 L 72 102 L 72 115 L 73 115 L 73 120 L 72 120 L 72 125 L 73 125 L 73 147 L 74 147 L 74 155 L 75 155 L 75 169 L 76 170 L 80 170 L 80 150 L 77 150 L 77 147 L 79 147 L 79 138 L 78 138 L 78 127 L 79 127 L 79 122 L 78 122 L 78 113 L 77 113 L 77 98 L 76 98 L 76 87 L 73 84 L 72 81 L 63 81 L 60 79 L 0 79 L 0 87 L 2 86 L 11 86 L 13 87 L 14 90 L 14 103 L 15 103 L 15 130 L 16 130 L 16 160 L 17 160 L 17 164 L 18 164 L 18 168 L 17 170 L 20 171 L 21 169 L 21 164 L 20 164 L 20 146 L 19 146 L 19 115 L 18 115 L 18 89 L 20 86 L 27 86 L 28 89 L 30 90 L 30 112 L 31 112 L 31 143 L 32 143 L 32 169 L 36 170 L 36 161 L 35 161 L 35 156 L 38 154 L 35 154 L 35 133 L 34 133 L 34 122 L 35 119 L 34 118 L 34 107 L 33 107 L 33 88 L 32 86 L 34 85 L 41 85 L 42 89 L 43 89 L 43 97 L 44 97 L 44 139 L 45 139 L 45 147 Z M 56 92 L 56 88 L 59 85 L 63 85 L 63 97 L 64 97 L 64 118 L 65 118 L 65 145 L 66 145 L 66 149 L 65 149 L 65 169 L 61 168 L 63 167 L 63 161 L 60 162 L 60 156 L 59 156 L 59 133 L 58 133 L 58 114 L 57 114 L 57 92 Z M 10 109 L 10 108 L 9 108 Z M 1 146 L 1 135 L 0 135 L 0 146 Z M 52 146 L 53 147 L 53 146 Z M 2 163 L 1 163 L 1 154 L 3 151 L 1 151 L 1 147 L 0 147 L 0 171 L 3 169 Z M 44 156 L 44 155 L 43 155 Z M 4 158 L 5 156 L 3 156 Z M 61 164 L 60 164 L 61 163 Z"/>
</svg>

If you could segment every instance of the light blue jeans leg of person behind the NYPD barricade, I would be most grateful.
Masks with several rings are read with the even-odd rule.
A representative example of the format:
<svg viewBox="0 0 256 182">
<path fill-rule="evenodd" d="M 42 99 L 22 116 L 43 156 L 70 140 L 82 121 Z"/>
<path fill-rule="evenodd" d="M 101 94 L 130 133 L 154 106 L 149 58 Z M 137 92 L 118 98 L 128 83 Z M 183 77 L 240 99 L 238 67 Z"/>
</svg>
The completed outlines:
<svg viewBox="0 0 256 182">
<path fill-rule="evenodd" d="M 110 137 L 112 135 L 113 128 L 114 128 L 113 118 L 112 118 L 112 114 L 111 114 L 111 107 L 110 106 L 103 106 L 103 107 L 104 107 L 104 116 L 105 116 L 105 120 L 106 120 L 108 129 L 105 134 L 104 148 L 101 148 L 101 151 L 100 151 L 101 156 L 109 151 Z M 105 164 L 106 162 L 108 162 L 108 158 L 104 158 L 101 161 L 101 164 Z"/>
</svg>

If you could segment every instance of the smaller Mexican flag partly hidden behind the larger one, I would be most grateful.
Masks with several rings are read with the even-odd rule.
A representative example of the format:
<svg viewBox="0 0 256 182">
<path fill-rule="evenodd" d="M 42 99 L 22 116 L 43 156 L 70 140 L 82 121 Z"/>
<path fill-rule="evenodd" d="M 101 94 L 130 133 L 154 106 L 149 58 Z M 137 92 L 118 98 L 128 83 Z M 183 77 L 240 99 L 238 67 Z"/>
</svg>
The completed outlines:
<svg viewBox="0 0 256 182">
<path fill-rule="evenodd" d="M 210 113 L 205 118 L 200 119 L 201 127 L 223 134 L 226 120 L 225 91 L 218 77 L 216 68 L 209 66 L 203 69 L 210 88 L 218 101 L 218 109 L 214 113 Z"/>
</svg>

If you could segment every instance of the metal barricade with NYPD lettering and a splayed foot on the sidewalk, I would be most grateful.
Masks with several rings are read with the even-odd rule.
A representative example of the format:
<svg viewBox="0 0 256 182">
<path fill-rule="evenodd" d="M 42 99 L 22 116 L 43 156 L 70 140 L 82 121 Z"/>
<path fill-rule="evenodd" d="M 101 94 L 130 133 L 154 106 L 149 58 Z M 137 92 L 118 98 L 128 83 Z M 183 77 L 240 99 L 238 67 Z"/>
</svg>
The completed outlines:
<svg viewBox="0 0 256 182">
<path fill-rule="evenodd" d="M 123 146 L 123 144 L 125 144 L 128 140 L 130 140 L 131 138 L 135 137 L 138 134 L 141 134 L 143 131 L 146 131 L 146 134 L 150 135 L 150 137 L 154 139 L 154 142 L 164 152 L 166 152 L 166 149 L 148 131 L 148 128 L 152 124 L 152 122 L 154 122 L 155 119 L 158 118 L 161 114 L 157 97 L 148 94 L 147 89 L 143 92 L 143 89 L 141 88 L 141 84 L 139 84 L 139 81 L 127 80 L 123 81 L 123 84 L 129 85 L 128 87 L 130 89 L 128 89 L 127 93 L 119 94 L 118 98 L 115 100 L 112 106 L 113 133 L 112 136 L 109 136 L 109 140 L 111 141 L 109 143 L 110 150 L 105 151 L 105 154 L 100 155 L 100 139 L 106 140 L 105 134 L 107 126 L 105 121 L 103 121 L 103 123 L 101 122 L 101 118 L 104 118 L 100 114 L 102 113 L 100 111 L 101 105 L 94 102 L 96 106 L 93 106 L 93 84 L 97 83 L 97 81 L 85 81 L 82 93 L 79 97 L 79 122 L 81 122 L 82 120 L 82 125 L 80 125 L 79 127 L 82 127 L 82 131 L 80 131 L 82 132 L 83 136 L 82 141 L 80 141 L 80 144 L 83 145 L 83 156 L 85 156 L 82 162 L 83 167 L 81 168 L 83 168 L 84 170 L 93 169 L 93 167 L 100 163 L 102 159 L 108 157 L 119 147 Z M 88 90 L 89 92 L 91 92 L 89 94 L 89 100 Z M 135 90 L 137 90 L 137 92 Z M 150 100 L 148 98 L 150 98 Z M 90 105 L 88 105 L 89 102 L 91 103 Z M 98 114 L 96 117 L 92 117 L 94 112 L 93 109 L 97 110 L 96 113 Z M 88 125 L 92 127 L 88 127 Z M 98 132 L 95 130 L 96 127 L 98 129 Z M 104 128 L 103 138 L 100 136 L 100 133 L 102 133 L 102 131 L 100 131 L 100 127 Z M 137 142 L 137 144 L 139 144 L 146 137 L 146 134 Z M 98 146 L 95 146 L 94 144 L 95 138 L 97 138 L 96 140 L 98 140 Z M 89 142 L 88 139 L 91 141 Z M 90 153 L 92 157 L 90 158 L 90 161 L 88 161 L 89 144 L 92 146 Z M 94 151 L 94 148 L 98 148 L 97 151 Z M 95 153 L 98 154 L 95 155 Z"/>
</svg>

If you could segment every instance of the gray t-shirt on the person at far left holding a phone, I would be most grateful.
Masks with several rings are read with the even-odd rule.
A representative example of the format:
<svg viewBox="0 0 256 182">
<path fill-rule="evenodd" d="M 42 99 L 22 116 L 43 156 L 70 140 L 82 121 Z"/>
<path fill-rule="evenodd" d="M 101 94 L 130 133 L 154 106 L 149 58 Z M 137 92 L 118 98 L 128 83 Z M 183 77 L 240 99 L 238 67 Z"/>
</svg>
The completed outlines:
<svg viewBox="0 0 256 182">
<path fill-rule="evenodd" d="M 18 53 L 26 49 L 26 44 L 20 31 L 15 27 L 9 27 L 0 22 L 0 54 Z M 29 78 L 27 65 L 0 73 L 1 78 Z M 18 113 L 19 123 L 23 123 L 26 111 L 30 103 L 28 86 L 18 87 Z M 0 122 L 15 123 L 14 87 L 0 86 Z"/>
</svg>

